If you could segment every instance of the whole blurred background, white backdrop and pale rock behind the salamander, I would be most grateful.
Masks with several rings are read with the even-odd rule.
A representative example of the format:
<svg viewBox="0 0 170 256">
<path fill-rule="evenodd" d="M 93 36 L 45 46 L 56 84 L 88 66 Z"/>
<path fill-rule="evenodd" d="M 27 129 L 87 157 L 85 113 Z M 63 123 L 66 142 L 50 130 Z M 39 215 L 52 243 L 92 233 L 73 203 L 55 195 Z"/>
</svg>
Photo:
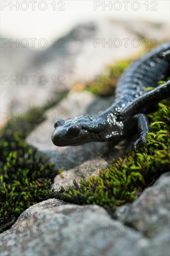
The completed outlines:
<svg viewBox="0 0 170 256">
<path fill-rule="evenodd" d="M 168 0 L 0 4 L 3 125 L 170 37 Z"/>
</svg>

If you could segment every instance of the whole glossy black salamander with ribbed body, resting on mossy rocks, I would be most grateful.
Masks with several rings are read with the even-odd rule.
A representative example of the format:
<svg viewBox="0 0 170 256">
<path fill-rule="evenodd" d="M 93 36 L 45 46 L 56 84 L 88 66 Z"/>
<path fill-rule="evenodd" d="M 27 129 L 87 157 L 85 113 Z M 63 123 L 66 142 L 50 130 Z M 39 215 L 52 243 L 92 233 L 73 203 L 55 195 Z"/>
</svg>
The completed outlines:
<svg viewBox="0 0 170 256">
<path fill-rule="evenodd" d="M 81 115 L 55 121 L 52 142 L 56 146 L 74 146 L 91 141 L 118 141 L 137 126 L 139 139 L 146 141 L 149 132 L 145 113 L 158 101 L 170 96 L 170 81 L 157 87 L 157 81 L 170 74 L 170 42 L 135 61 L 122 74 L 116 89 L 116 102 L 98 118 Z M 157 87 L 145 92 L 147 87 Z"/>
</svg>

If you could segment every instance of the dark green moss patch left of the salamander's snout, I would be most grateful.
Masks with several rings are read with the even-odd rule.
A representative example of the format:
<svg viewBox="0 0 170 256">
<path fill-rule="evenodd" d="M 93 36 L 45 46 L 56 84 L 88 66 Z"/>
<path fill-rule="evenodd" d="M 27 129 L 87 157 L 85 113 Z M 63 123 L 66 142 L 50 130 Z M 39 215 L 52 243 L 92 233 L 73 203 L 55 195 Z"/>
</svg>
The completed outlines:
<svg viewBox="0 0 170 256">
<path fill-rule="evenodd" d="M 41 114 L 52 105 L 50 102 L 44 108 L 30 109 L 26 122 L 13 119 L 1 131 L 0 231 L 9 228 L 31 205 L 54 196 L 50 187 L 58 172 L 25 143 L 26 135 L 44 121 Z"/>
</svg>

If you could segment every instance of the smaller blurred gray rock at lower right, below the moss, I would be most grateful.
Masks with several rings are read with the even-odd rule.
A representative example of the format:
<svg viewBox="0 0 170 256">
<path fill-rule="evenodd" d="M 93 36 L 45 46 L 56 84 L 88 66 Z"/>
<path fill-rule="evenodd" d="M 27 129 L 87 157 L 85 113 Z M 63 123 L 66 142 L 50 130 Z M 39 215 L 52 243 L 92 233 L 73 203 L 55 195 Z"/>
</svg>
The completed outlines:
<svg viewBox="0 0 170 256">
<path fill-rule="evenodd" d="M 144 189 L 132 204 L 117 209 L 118 219 L 143 229 L 147 236 L 159 236 L 170 226 L 170 172 Z M 170 234 L 169 234 L 170 235 Z"/>
</svg>

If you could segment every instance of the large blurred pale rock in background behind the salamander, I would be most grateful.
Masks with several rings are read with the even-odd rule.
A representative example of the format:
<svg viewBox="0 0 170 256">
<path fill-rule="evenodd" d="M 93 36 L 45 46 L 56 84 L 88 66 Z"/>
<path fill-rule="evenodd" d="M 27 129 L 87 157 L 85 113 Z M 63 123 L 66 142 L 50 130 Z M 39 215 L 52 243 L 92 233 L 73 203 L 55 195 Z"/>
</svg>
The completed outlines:
<svg viewBox="0 0 170 256">
<path fill-rule="evenodd" d="M 93 80 L 106 65 L 138 54 L 146 38 L 168 40 L 166 31 L 169 34 L 168 25 L 163 23 L 101 20 L 73 28 L 56 39 L 55 47 L 41 48 L 41 51 L 20 44 L 18 48 L 15 44 L 10 47 L 7 39 L 9 42 L 1 47 L 1 112 L 7 113 L 1 120 L 2 126 L 10 113 L 16 116 L 31 106 L 44 106 L 49 100 L 57 102 L 59 94 L 75 83 Z M 139 45 L 134 47 L 136 38 Z M 105 44 L 110 39 L 111 45 Z M 128 39 L 127 46 L 124 39 Z M 13 79 L 17 76 L 16 83 Z"/>
</svg>

